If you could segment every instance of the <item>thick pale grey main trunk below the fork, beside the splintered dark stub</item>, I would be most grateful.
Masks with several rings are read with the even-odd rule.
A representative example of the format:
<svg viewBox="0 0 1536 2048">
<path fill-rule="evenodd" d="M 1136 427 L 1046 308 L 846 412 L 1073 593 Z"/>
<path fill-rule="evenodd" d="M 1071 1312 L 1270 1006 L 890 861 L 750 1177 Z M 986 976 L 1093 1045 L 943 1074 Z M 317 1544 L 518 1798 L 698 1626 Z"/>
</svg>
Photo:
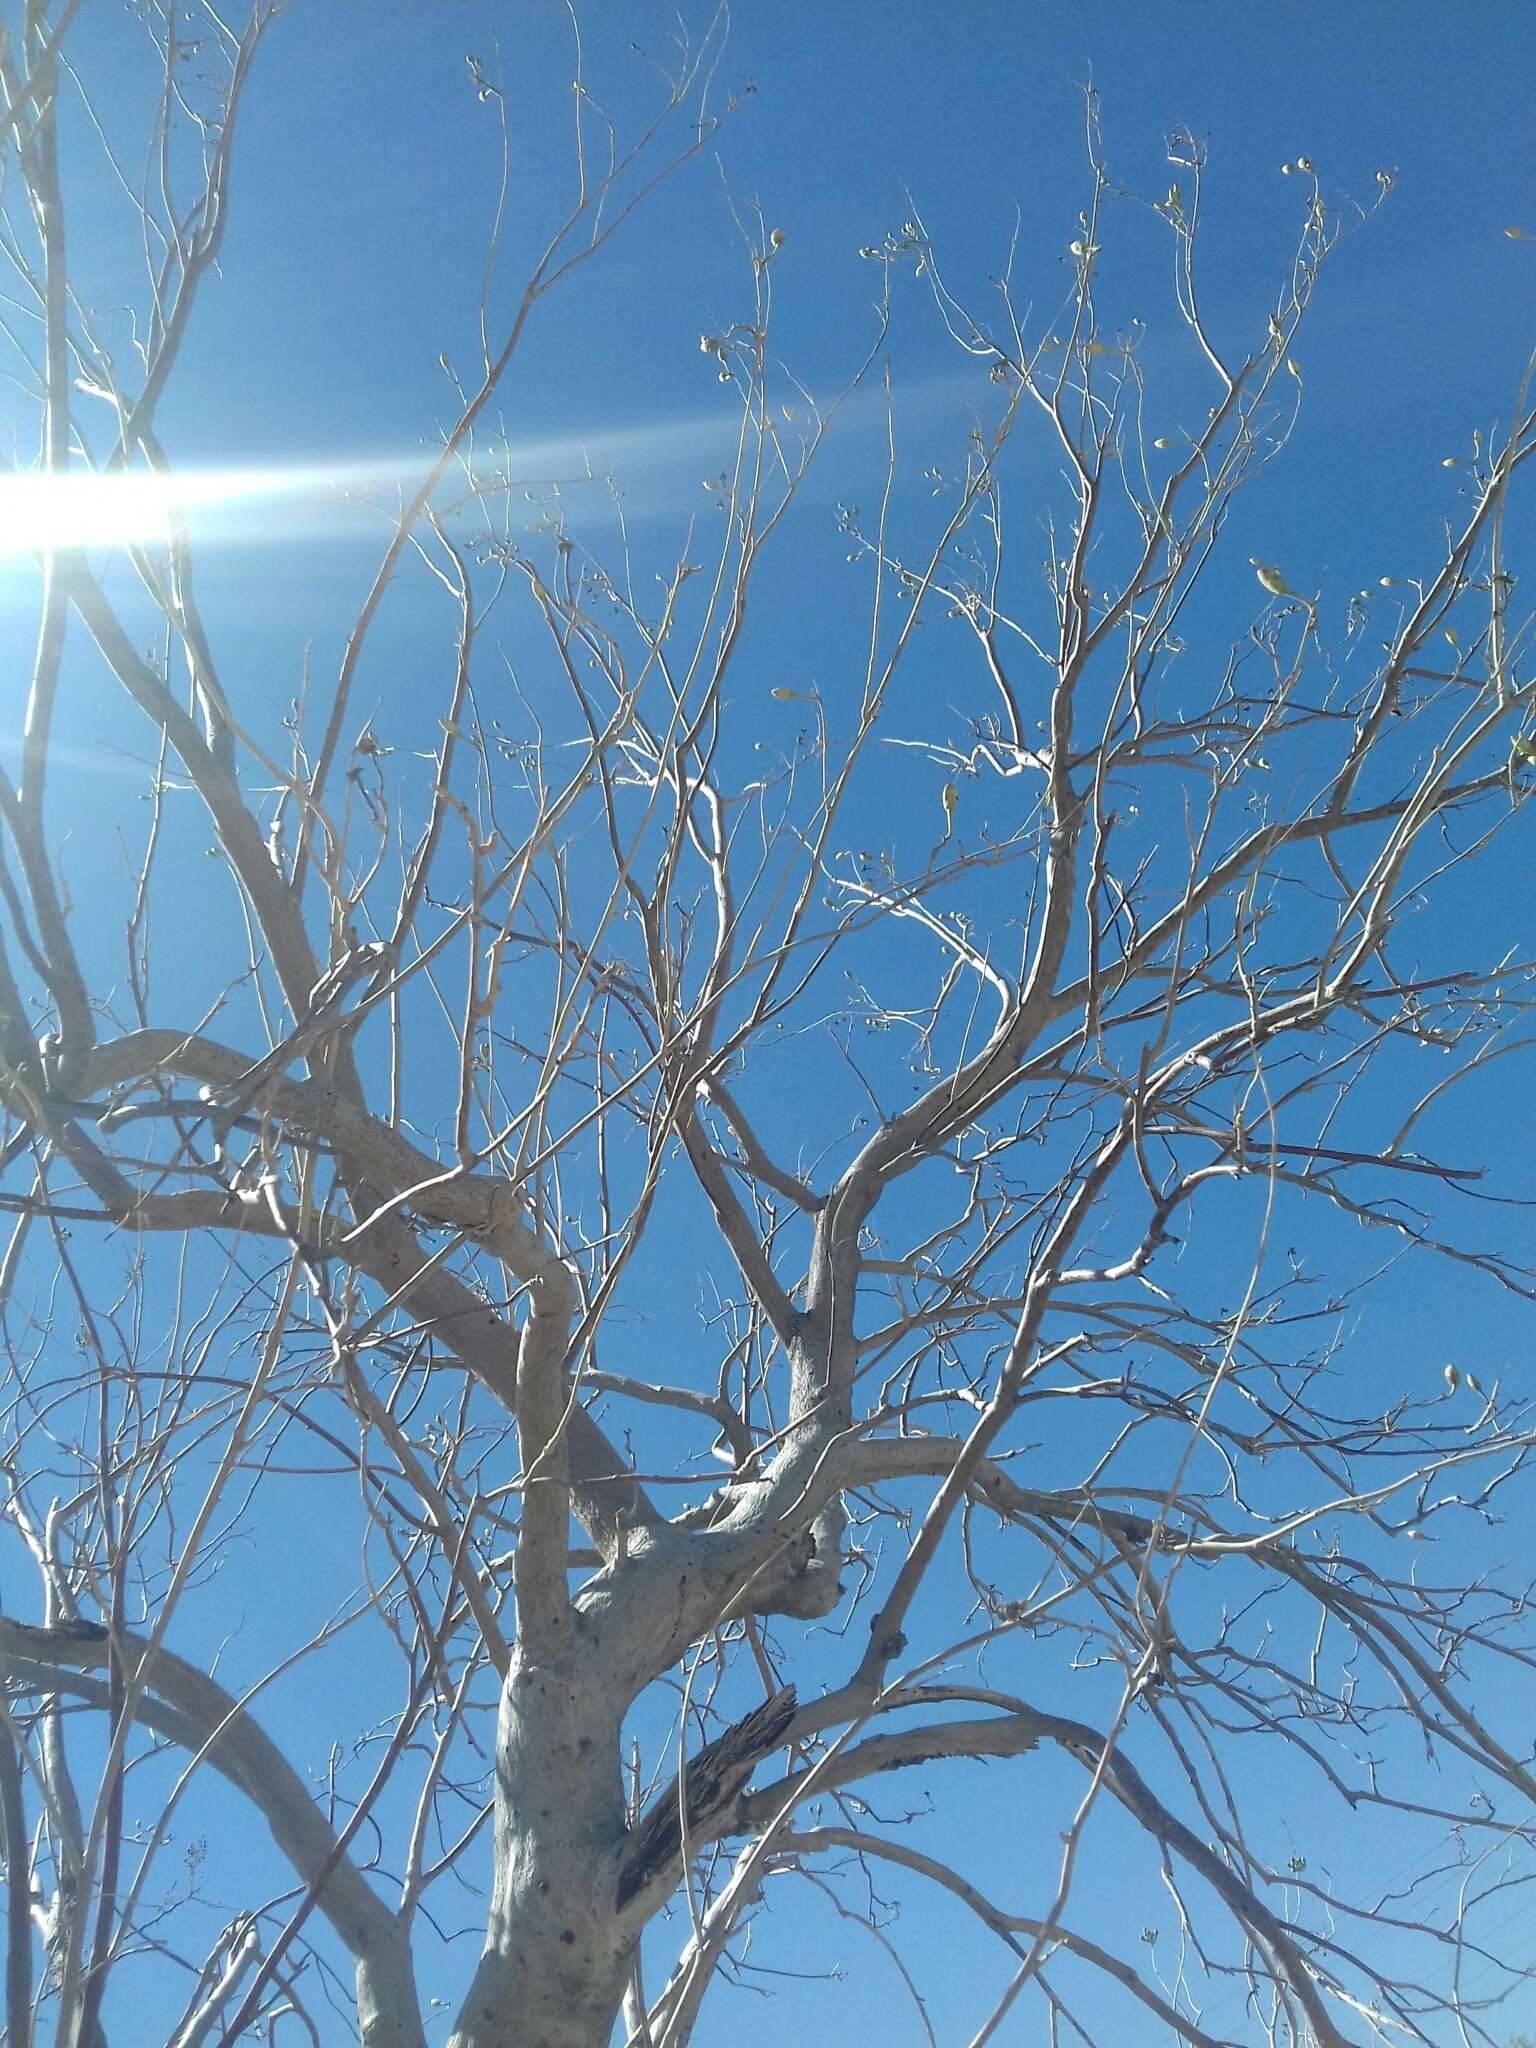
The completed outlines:
<svg viewBox="0 0 1536 2048">
<path fill-rule="evenodd" d="M 635 1946 L 616 1905 L 621 1710 L 586 1657 L 514 1657 L 485 1952 L 451 2048 L 608 2048 Z"/>
</svg>

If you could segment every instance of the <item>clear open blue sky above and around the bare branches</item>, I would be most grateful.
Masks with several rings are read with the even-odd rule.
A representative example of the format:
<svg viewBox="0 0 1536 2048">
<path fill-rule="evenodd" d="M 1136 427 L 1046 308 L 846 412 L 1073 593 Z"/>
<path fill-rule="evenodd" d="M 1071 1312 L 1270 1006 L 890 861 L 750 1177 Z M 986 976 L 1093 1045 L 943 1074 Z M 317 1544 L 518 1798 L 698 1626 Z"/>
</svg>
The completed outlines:
<svg viewBox="0 0 1536 2048">
<path fill-rule="evenodd" d="M 618 117 L 645 94 L 645 68 L 629 45 L 662 51 L 672 23 L 672 10 L 649 0 L 588 10 L 594 92 Z M 129 133 L 143 86 L 135 45 L 125 20 L 94 33 L 109 127 Z M 453 412 L 440 354 L 469 377 L 500 143 L 492 111 L 469 88 L 467 53 L 508 100 L 514 182 L 504 274 L 512 281 L 569 193 L 561 6 L 297 0 L 252 84 L 223 274 L 199 307 L 162 432 L 186 469 L 301 465 L 313 473 L 285 500 L 207 524 L 201 586 L 225 674 L 268 717 L 297 688 L 305 653 L 317 676 L 334 672 L 377 559 L 371 516 L 336 504 L 328 479 L 410 473 Z M 1049 307 L 1069 289 L 1067 242 L 1085 197 L 1081 86 L 1092 80 L 1110 172 L 1130 186 L 1161 193 L 1174 127 L 1208 137 L 1206 311 L 1235 340 L 1262 328 L 1276 266 L 1305 211 L 1282 162 L 1309 154 L 1331 197 L 1364 203 L 1374 201 L 1376 172 L 1395 172 L 1389 205 L 1329 266 L 1307 328 L 1307 397 L 1292 449 L 1241 502 L 1227 565 L 1214 571 L 1217 588 L 1249 606 L 1249 553 L 1286 563 L 1309 590 L 1376 584 L 1436 547 L 1454 504 L 1442 461 L 1466 451 L 1473 428 L 1507 418 L 1534 338 L 1536 242 L 1505 236 L 1524 225 L 1536 238 L 1532 76 L 1536 14 L 1499 0 L 1155 10 L 743 0 L 719 80 L 737 88 L 752 80 L 756 92 L 729 121 L 719 152 L 688 166 L 592 272 L 537 315 L 502 399 L 514 463 L 535 489 L 561 479 L 571 524 L 598 551 L 618 532 L 612 475 L 637 553 L 664 567 L 705 510 L 700 481 L 729 444 L 731 418 L 698 352 L 700 332 L 743 317 L 750 303 L 727 201 L 758 203 L 764 221 L 782 229 L 778 348 L 817 395 L 829 395 L 872 332 L 877 281 L 858 248 L 879 244 L 911 209 L 942 252 L 948 281 L 967 295 L 985 293 L 1014 233 L 1020 297 Z M 76 260 L 92 303 L 111 303 L 133 289 L 133 250 L 113 240 L 104 182 L 92 203 L 100 215 L 86 211 L 80 221 Z M 1149 375 L 1171 330 L 1155 248 L 1137 225 L 1106 238 L 1104 256 L 1106 291 L 1126 317 L 1139 311 L 1149 324 Z M 963 440 L 973 385 L 928 301 L 911 289 L 897 301 L 899 514 L 918 518 L 922 471 Z M 1180 389 L 1180 373 L 1169 367 L 1167 377 Z M 834 582 L 831 516 L 840 498 L 879 477 L 881 432 L 879 408 L 856 406 L 807 494 L 778 582 L 768 584 L 762 653 L 752 657 L 750 674 L 764 690 L 782 680 L 825 684 L 854 657 Z M 592 481 L 569 481 L 586 469 Z M 1032 477 L 1047 487 L 1049 467 L 1026 469 L 1022 485 Z M 535 504 L 528 516 L 539 516 Z M 29 573 L 4 571 L 0 616 L 8 623 L 29 616 Z M 399 743 L 430 733 L 442 647 L 438 604 L 401 590 L 362 678 L 362 700 L 379 707 L 381 727 Z M 92 745 L 82 743 L 80 784 L 66 799 L 72 858 L 82 868 L 109 854 L 119 825 L 98 793 L 133 774 L 100 745 L 141 745 L 127 723 L 119 731 L 106 702 L 86 707 L 82 731 L 86 719 L 100 725 L 90 727 Z M 201 911 L 195 897 L 186 907 Z M 1485 905 L 1466 907 L 1468 918 L 1483 913 Z M 106 934 L 121 924 L 121 905 L 109 891 L 82 893 L 80 918 L 86 928 L 98 918 Z M 1497 1098 L 1487 1104 L 1497 1110 Z M 1438 1370 L 1446 1348 L 1473 1333 L 1493 1350 L 1528 1350 L 1503 1309 L 1430 1284 L 1425 1294 L 1384 1305 L 1364 1370 L 1391 1386 L 1393 1354 L 1417 1346 L 1423 1368 Z M 338 1552 L 346 1536 L 338 1532 Z M 299 1573 L 324 1536 L 274 1528 L 270 1540 L 285 1571 Z M 299 1587 L 311 1591 L 313 1575 Z M 254 1655 L 260 1649 L 252 1645 Z M 240 1663 L 238 1649 L 231 1657 Z M 342 1663 L 338 1688 L 348 1679 L 356 1667 Z M 309 1763 L 324 1761 L 332 1731 L 307 1694 L 279 1688 L 272 1724 L 311 1743 Z M 1024 1808 L 1010 1802 L 1028 1800 L 1030 1784 L 1020 1778 L 1010 1790 L 1004 1772 L 958 1767 L 961 1794 L 942 1831 L 967 1835 L 995 1872 L 995 1896 L 1022 1905 L 1008 1858 Z M 967 1790 L 969 1782 L 979 1790 Z M 938 1778 L 934 1792 L 942 1796 Z M 1319 1810 L 1296 1823 L 1311 1841 L 1352 1853 L 1335 1817 Z M 1118 1860 L 1130 1853 L 1106 1823 L 1087 1878 L 1112 1890 Z M 1391 1831 L 1370 1831 L 1370 1853 L 1391 1862 Z M 1415 1843 L 1403 1862 L 1417 1855 Z M 985 1952 L 969 1935 L 963 1950 L 950 1946 L 961 1925 L 946 1907 L 903 1896 L 901 1929 L 940 2040 L 965 2038 L 961 2030 L 987 2007 L 969 1974 L 983 1968 L 973 1958 Z M 1106 1909 L 1106 1917 L 1118 1913 Z M 717 2030 L 702 2028 L 705 2048 L 727 2038 L 920 2038 L 889 1968 L 866 1952 L 854 1956 L 856 1929 L 805 1901 L 784 1911 L 778 1929 L 764 1937 L 762 1960 L 791 1974 L 764 1980 L 772 1999 L 721 2003 Z M 1507 1939 L 1530 1946 L 1532 1931 L 1536 1915 Z M 444 1989 L 469 1946 L 453 1952 Z M 961 1968 L 956 1954 L 967 1958 Z M 844 1956 L 856 1962 L 856 1993 L 844 2003 L 836 1987 L 801 1985 L 793 1974 L 834 1968 Z M 995 1956 L 985 1956 L 985 1970 L 983 1985 L 999 1978 Z M 1237 2028 L 1235 2009 L 1227 2023 Z"/>
</svg>

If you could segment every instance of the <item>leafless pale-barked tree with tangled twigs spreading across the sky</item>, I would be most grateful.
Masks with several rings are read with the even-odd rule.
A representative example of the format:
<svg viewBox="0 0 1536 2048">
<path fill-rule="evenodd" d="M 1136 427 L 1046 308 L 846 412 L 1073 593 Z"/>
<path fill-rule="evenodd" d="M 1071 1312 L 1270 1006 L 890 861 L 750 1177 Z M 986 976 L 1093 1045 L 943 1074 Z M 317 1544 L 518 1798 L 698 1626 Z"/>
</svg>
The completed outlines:
<svg viewBox="0 0 1536 2048">
<path fill-rule="evenodd" d="M 0 31 L 14 487 L 174 500 L 164 395 L 276 8 L 139 12 L 131 326 L 61 168 L 92 135 L 117 168 L 86 20 L 27 0 Z M 469 1903 L 455 2048 L 680 2048 L 768 1880 L 897 1960 L 889 1888 L 975 1915 L 977 2042 L 1030 2009 L 1040 2040 L 1489 2040 L 1462 1972 L 1520 1974 L 1489 1929 L 1530 1876 L 1532 1413 L 1477 1358 L 1382 1413 L 1352 1350 L 1421 1262 L 1536 1290 L 1458 1110 L 1528 1042 L 1528 389 L 1442 479 L 1432 561 L 1339 598 L 1239 557 L 1223 623 L 1235 496 L 1286 453 L 1319 274 L 1391 178 L 1362 211 L 1296 166 L 1294 256 L 1217 334 L 1202 145 L 1139 199 L 1090 96 L 1047 319 L 1012 279 L 965 303 L 922 219 L 862 252 L 850 375 L 889 463 L 825 604 L 866 657 L 784 680 L 754 594 L 815 526 L 838 406 L 774 352 L 772 223 L 737 213 L 741 319 L 700 348 L 735 453 L 659 582 L 559 500 L 524 530 L 496 440 L 526 332 L 729 113 L 719 57 L 713 23 L 635 135 L 578 70 L 569 209 L 516 291 L 487 266 L 483 356 L 291 715 L 225 688 L 178 516 L 39 555 L 0 784 L 6 2040 L 147 2040 L 170 1982 L 176 2048 L 420 2048 Z M 1171 258 L 1171 401 L 1102 301 L 1116 233 Z M 893 293 L 975 373 L 915 508 Z M 428 705 L 358 682 L 406 586 L 440 596 Z M 57 825 L 104 682 L 147 799 L 121 887 Z M 356 1534 L 319 1630 L 276 1524 Z M 295 1673 L 305 1755 L 266 1733 Z M 999 1759 L 1012 1868 L 903 1825 L 913 1776 L 973 1796 L 965 1759 Z M 1454 1911 L 1370 1855 L 1276 1862 L 1255 1774 L 1417 1817 Z M 1100 1829 L 1145 1843 L 1124 1911 L 1174 1901 L 1178 1966 L 1073 1882 Z"/>
</svg>

